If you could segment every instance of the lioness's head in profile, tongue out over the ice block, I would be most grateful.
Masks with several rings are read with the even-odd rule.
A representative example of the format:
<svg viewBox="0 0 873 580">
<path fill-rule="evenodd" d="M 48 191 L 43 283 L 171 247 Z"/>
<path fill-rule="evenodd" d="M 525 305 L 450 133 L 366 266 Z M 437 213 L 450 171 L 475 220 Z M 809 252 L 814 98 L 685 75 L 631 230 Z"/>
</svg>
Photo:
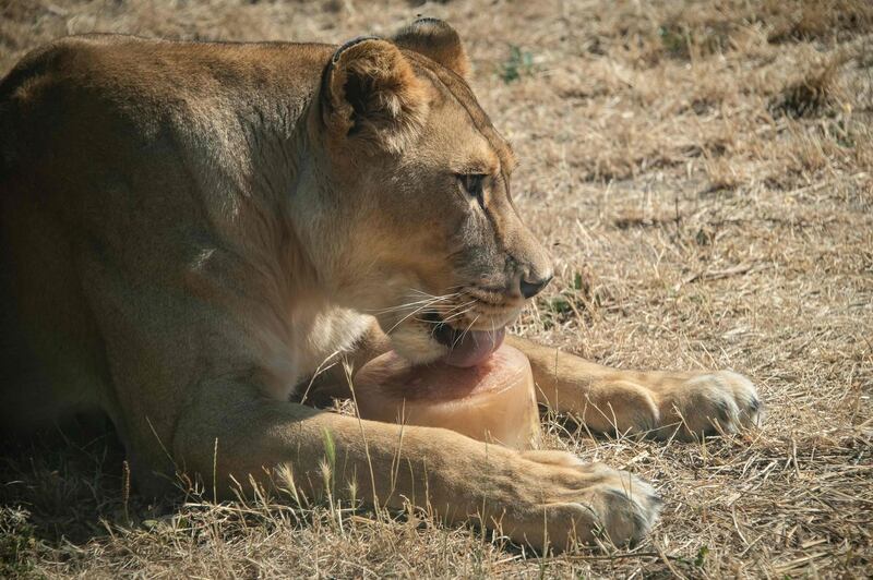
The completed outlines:
<svg viewBox="0 0 873 580">
<path fill-rule="evenodd" d="M 455 31 L 422 19 L 347 43 L 310 112 L 311 256 L 332 299 L 414 362 L 476 364 L 552 277 L 513 204 L 515 158 L 464 76 Z"/>
</svg>

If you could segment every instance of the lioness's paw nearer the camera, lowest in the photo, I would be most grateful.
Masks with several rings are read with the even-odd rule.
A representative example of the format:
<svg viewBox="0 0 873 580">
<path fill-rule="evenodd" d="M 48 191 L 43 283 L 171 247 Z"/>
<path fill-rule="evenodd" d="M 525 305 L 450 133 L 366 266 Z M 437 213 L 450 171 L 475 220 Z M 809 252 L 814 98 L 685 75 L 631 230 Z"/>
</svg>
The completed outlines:
<svg viewBox="0 0 873 580">
<path fill-rule="evenodd" d="M 531 451 L 522 457 L 529 462 L 527 475 L 535 478 L 529 493 L 536 502 L 522 510 L 528 521 L 516 522 L 521 525 L 513 536 L 558 549 L 598 540 L 632 544 L 657 520 L 661 500 L 650 485 L 631 473 L 584 463 L 560 451 Z"/>
</svg>

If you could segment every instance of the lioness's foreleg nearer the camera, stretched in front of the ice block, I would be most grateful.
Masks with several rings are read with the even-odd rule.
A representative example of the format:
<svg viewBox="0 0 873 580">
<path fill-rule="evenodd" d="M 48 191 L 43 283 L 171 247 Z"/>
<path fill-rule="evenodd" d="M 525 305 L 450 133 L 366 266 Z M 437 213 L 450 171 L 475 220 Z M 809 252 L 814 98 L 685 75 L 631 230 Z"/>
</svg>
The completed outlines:
<svg viewBox="0 0 873 580">
<path fill-rule="evenodd" d="M 360 421 L 241 385 L 211 385 L 208 394 L 180 420 L 172 454 L 222 497 L 237 486 L 253 495 L 258 484 L 304 505 L 408 504 L 560 548 L 593 541 L 598 527 L 617 543 L 638 539 L 658 511 L 645 483 L 569 454 L 519 454 L 447 430 Z"/>
</svg>

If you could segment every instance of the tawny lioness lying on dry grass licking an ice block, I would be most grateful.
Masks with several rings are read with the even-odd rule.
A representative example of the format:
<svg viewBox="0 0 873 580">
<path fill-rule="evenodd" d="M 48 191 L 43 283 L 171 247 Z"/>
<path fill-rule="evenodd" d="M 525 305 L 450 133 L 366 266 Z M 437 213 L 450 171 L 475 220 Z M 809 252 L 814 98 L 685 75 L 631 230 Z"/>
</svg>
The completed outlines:
<svg viewBox="0 0 873 580">
<path fill-rule="evenodd" d="M 540 547 L 645 534 L 659 500 L 626 472 L 292 402 L 386 348 L 476 364 L 552 277 L 468 71 L 433 19 L 340 47 L 88 35 L 27 56 L 0 83 L 3 427 L 100 410 L 145 493 L 183 472 L 314 496 L 330 449 L 346 496 Z M 593 432 L 758 416 L 733 373 L 506 340 Z"/>
</svg>

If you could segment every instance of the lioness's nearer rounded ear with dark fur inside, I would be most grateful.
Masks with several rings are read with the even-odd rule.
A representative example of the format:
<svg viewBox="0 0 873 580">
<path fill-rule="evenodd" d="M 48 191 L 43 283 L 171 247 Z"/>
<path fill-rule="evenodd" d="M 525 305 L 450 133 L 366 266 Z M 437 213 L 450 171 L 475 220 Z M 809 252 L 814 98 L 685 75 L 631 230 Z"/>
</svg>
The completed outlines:
<svg viewBox="0 0 873 580">
<path fill-rule="evenodd" d="M 324 121 L 335 136 L 399 150 L 427 113 L 426 85 L 387 40 L 356 38 L 334 52 L 322 89 Z"/>
</svg>

